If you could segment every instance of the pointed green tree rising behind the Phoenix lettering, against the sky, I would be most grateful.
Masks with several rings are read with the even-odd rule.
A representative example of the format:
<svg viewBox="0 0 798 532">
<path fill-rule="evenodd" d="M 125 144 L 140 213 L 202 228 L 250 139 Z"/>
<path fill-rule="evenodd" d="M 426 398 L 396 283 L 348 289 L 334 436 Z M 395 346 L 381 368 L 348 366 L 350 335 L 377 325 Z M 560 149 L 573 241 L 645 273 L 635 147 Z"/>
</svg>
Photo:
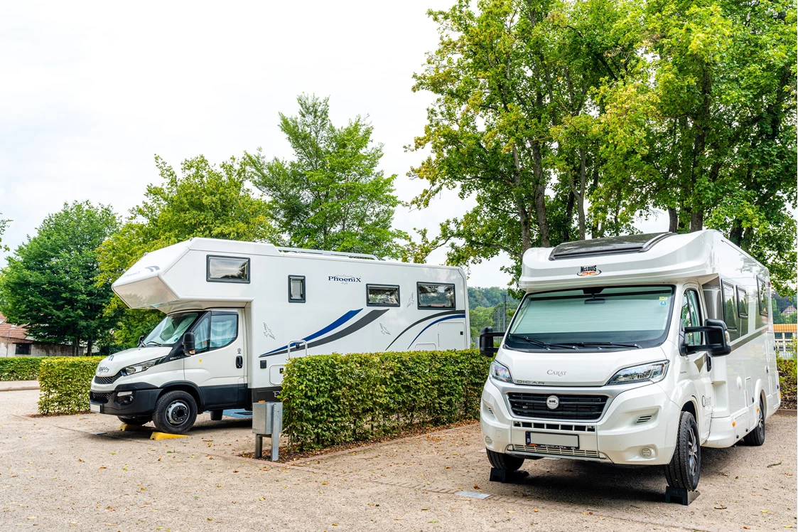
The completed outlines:
<svg viewBox="0 0 798 532">
<path fill-rule="evenodd" d="M 280 130 L 294 149 L 294 161 L 267 161 L 261 149 L 247 153 L 252 182 L 267 195 L 285 244 L 397 257 L 391 228 L 400 203 L 396 176 L 377 169 L 382 145 L 360 116 L 341 128 L 330 121 L 329 98 L 302 95 L 299 113 L 280 113 Z"/>
</svg>

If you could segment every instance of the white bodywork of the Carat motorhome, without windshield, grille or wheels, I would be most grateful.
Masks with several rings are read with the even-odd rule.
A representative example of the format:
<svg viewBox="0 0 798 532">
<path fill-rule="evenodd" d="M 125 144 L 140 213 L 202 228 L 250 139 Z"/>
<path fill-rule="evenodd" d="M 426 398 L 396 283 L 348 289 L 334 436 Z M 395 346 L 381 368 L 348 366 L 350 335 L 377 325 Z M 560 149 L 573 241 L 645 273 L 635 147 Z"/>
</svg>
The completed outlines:
<svg viewBox="0 0 798 532">
<path fill-rule="evenodd" d="M 551 248 L 530 249 L 524 255 L 520 286 L 527 294 L 591 286 L 673 286 L 666 339 L 657 347 L 604 352 L 521 351 L 503 340 L 496 361 L 509 369 L 514 382 L 489 378 L 482 395 L 482 431 L 492 451 L 666 464 L 674 452 L 683 409 L 696 412 L 701 445 L 729 447 L 756 426 L 760 399 L 765 417 L 779 407 L 768 270 L 719 232 L 667 236 L 644 252 L 586 253 L 555 260 L 551 256 Z M 599 273 L 580 276 L 583 268 Z M 733 351 L 711 359 L 705 352 L 680 354 L 678 313 L 685 291 L 697 292 L 701 323 L 708 317 L 723 320 L 723 300 L 715 298 L 721 283 L 748 295 L 747 319 L 738 318 L 737 331 L 729 331 Z M 760 285 L 767 313 L 760 313 L 758 306 Z M 606 385 L 623 368 L 661 361 L 667 361 L 668 367 L 658 383 Z M 510 393 L 599 395 L 606 397 L 606 407 L 588 422 L 535 419 L 513 413 Z M 579 449 L 528 447 L 527 431 L 578 434 Z"/>
</svg>

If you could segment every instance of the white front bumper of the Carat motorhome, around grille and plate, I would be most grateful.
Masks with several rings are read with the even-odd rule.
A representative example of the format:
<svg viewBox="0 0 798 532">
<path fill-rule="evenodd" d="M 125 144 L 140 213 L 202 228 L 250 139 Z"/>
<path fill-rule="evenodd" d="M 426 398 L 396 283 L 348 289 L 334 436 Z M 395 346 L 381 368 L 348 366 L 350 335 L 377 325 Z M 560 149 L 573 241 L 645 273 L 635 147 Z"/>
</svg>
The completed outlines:
<svg viewBox="0 0 798 532">
<path fill-rule="evenodd" d="M 488 379 L 482 392 L 480 425 L 488 449 L 508 455 L 559 456 L 608 463 L 659 465 L 670 462 L 676 445 L 679 407 L 658 384 L 614 388 L 599 419 L 534 419 L 513 415 L 508 391 L 607 395 L 606 387 L 547 389 L 514 384 L 501 388 Z M 579 425 L 577 425 L 578 423 Z M 535 427 L 536 425 L 536 427 Z M 543 425 L 543 427 L 541 427 Z M 527 446 L 526 433 L 579 435 L 578 449 Z"/>
</svg>

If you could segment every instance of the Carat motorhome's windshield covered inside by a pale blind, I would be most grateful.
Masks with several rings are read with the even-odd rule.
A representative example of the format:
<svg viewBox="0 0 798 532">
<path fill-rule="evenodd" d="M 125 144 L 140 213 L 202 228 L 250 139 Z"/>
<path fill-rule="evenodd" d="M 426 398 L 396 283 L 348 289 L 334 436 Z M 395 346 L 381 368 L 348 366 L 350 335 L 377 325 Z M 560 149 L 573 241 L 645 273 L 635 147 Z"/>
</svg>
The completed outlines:
<svg viewBox="0 0 798 532">
<path fill-rule="evenodd" d="M 505 343 L 514 349 L 617 349 L 665 341 L 674 288 L 591 287 L 527 294 Z"/>
</svg>

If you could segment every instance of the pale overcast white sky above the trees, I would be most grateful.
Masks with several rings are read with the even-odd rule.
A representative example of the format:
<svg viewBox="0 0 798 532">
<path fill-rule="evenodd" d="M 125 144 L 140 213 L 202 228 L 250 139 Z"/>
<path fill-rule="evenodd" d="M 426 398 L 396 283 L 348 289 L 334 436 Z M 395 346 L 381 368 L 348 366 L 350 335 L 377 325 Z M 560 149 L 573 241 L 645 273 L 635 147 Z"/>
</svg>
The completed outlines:
<svg viewBox="0 0 798 532">
<path fill-rule="evenodd" d="M 411 200 L 423 183 L 405 174 L 422 156 L 403 146 L 433 101 L 410 90 L 437 45 L 425 11 L 453 3 L 0 3 L 0 212 L 13 220 L 3 243 L 15 248 L 65 201 L 126 215 L 159 180 L 156 153 L 175 167 L 258 146 L 290 157 L 278 112 L 294 114 L 302 92 L 330 96 L 337 125 L 369 115 L 381 168 Z M 470 207 L 445 193 L 424 211 L 399 208 L 395 224 L 437 234 Z M 667 218 L 645 225 L 666 230 Z M 469 284 L 506 286 L 508 263 L 472 267 Z"/>
</svg>

